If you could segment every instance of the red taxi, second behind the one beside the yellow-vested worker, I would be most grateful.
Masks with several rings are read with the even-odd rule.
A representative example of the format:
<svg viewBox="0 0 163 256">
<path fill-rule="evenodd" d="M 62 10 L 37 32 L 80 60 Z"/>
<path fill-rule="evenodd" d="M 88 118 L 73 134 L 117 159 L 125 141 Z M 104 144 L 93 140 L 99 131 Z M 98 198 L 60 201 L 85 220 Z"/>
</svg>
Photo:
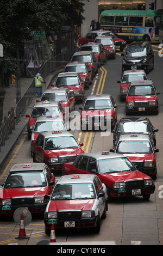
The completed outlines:
<svg viewBox="0 0 163 256">
<path fill-rule="evenodd" d="M 90 88 L 92 84 L 92 71 L 86 62 L 71 62 L 65 66 L 64 72 L 77 72 L 84 82 L 84 86 Z"/>
</svg>

